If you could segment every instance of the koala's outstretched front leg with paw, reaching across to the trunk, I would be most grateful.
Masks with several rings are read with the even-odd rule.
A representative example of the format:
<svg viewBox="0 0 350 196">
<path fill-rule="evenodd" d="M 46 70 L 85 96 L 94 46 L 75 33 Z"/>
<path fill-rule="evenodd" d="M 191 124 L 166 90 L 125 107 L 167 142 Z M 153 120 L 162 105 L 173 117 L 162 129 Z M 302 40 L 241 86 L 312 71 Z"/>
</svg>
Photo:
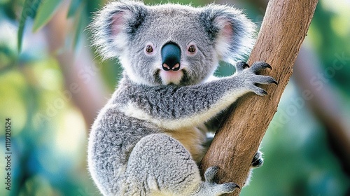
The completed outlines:
<svg viewBox="0 0 350 196">
<path fill-rule="evenodd" d="M 210 83 L 181 87 L 130 85 L 125 90 L 127 104 L 123 111 L 127 116 L 147 120 L 169 130 L 196 127 L 216 116 L 247 92 L 267 94 L 256 86 L 276 83 L 271 76 L 257 74 L 266 68 L 271 66 L 265 62 L 256 62 L 251 67 L 239 62 L 233 76 Z"/>
</svg>

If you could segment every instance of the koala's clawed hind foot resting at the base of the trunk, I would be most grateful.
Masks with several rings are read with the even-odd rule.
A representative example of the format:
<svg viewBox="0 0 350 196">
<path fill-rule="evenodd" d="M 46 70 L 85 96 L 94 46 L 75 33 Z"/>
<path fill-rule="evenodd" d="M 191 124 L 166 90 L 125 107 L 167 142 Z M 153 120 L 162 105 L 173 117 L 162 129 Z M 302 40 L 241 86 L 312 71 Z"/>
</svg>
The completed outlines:
<svg viewBox="0 0 350 196">
<path fill-rule="evenodd" d="M 204 174 L 205 182 L 202 185 L 202 195 L 223 195 L 225 193 L 232 193 L 235 188 L 239 188 L 236 183 L 217 184 L 214 182 L 216 174 L 218 174 L 219 167 L 209 167 Z M 201 194 L 199 194 L 201 195 Z"/>
</svg>

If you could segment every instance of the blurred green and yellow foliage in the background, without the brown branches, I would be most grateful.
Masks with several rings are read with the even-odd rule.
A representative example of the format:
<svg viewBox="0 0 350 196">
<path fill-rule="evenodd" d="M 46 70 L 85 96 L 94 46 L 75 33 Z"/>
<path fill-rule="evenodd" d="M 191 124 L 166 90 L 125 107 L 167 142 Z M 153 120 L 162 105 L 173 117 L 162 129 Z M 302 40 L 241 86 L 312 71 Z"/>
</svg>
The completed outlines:
<svg viewBox="0 0 350 196">
<path fill-rule="evenodd" d="M 49 2 L 49 3 L 48 3 Z M 163 1 L 146 1 L 160 3 Z M 177 1 L 176 1 L 177 2 Z M 186 1 L 180 1 L 187 3 Z M 192 1 L 194 6 L 205 3 Z M 74 22 L 76 47 L 85 38 L 92 13 L 106 1 L 72 0 L 68 18 Z M 99 195 L 87 172 L 89 127 L 81 111 L 64 95 L 64 74 L 40 30 L 62 1 L 0 0 L 0 195 Z M 239 1 L 239 6 L 260 24 L 263 8 Z M 27 8 L 27 10 L 26 10 Z M 321 0 L 307 39 L 321 59 L 321 70 L 337 57 L 346 57 L 342 71 L 331 79 L 350 111 L 350 3 Z M 31 30 L 36 30 L 31 34 Z M 34 38 L 35 41 L 28 39 Z M 35 43 L 35 44 L 33 44 Z M 18 48 L 22 48 L 18 52 Z M 100 59 L 96 59 L 100 63 Z M 102 62 L 104 82 L 113 91 L 120 66 Z M 219 76 L 232 74 L 222 64 Z M 276 119 L 300 97 L 293 81 L 283 94 Z M 11 190 L 6 190 L 5 119 L 11 119 Z M 274 124 L 275 123 L 275 124 Z M 286 123 L 270 126 L 262 141 L 265 164 L 255 169 L 250 186 L 241 195 L 349 195 L 350 179 L 328 146 L 328 135 L 307 107 Z M 234 168 L 232 168 L 234 169 Z"/>
</svg>

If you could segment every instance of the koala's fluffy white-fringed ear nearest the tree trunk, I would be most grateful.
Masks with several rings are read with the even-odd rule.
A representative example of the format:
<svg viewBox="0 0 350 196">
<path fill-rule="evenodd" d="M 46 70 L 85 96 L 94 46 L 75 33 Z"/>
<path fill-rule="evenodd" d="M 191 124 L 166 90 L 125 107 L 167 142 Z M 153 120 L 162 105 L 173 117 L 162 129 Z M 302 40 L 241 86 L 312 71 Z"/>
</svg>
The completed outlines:
<svg viewBox="0 0 350 196">
<path fill-rule="evenodd" d="M 255 24 L 241 10 L 210 4 L 203 8 L 200 19 L 215 41 L 219 59 L 234 64 L 253 48 Z"/>
</svg>

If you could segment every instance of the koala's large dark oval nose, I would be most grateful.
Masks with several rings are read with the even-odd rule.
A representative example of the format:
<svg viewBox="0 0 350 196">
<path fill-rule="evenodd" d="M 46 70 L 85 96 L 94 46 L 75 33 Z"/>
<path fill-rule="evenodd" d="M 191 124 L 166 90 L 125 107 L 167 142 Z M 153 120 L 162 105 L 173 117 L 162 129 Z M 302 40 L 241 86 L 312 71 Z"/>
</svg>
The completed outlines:
<svg viewBox="0 0 350 196">
<path fill-rule="evenodd" d="M 169 42 L 163 45 L 162 68 L 165 71 L 178 71 L 180 69 L 181 50 L 175 43 Z"/>
</svg>

